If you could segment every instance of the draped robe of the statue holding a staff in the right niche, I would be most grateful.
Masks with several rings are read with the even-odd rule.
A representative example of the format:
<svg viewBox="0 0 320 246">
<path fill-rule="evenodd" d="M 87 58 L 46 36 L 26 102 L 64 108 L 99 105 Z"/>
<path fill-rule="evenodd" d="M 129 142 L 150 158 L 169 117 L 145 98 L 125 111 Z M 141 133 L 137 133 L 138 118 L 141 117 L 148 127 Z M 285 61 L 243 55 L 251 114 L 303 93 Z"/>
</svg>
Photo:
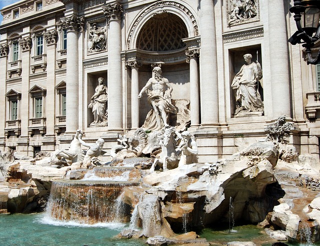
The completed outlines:
<svg viewBox="0 0 320 246">
<path fill-rule="evenodd" d="M 236 89 L 235 101 L 240 101 L 243 109 L 256 112 L 263 111 L 263 102 L 257 90 L 262 71 L 258 71 L 256 63 L 244 64 L 235 75 L 231 87 Z"/>
</svg>

